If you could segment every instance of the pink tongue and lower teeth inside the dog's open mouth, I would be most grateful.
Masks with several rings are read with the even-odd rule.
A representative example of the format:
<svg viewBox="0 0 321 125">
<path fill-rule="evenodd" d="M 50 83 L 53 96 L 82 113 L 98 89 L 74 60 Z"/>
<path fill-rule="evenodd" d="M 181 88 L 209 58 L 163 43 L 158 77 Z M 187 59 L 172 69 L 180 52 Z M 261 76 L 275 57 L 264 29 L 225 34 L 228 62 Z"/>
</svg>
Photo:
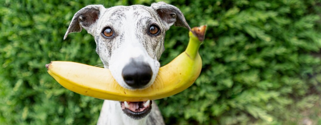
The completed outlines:
<svg viewBox="0 0 321 125">
<path fill-rule="evenodd" d="M 129 109 L 133 112 L 142 112 L 150 105 L 150 100 L 144 102 L 121 102 L 122 109 Z"/>
</svg>

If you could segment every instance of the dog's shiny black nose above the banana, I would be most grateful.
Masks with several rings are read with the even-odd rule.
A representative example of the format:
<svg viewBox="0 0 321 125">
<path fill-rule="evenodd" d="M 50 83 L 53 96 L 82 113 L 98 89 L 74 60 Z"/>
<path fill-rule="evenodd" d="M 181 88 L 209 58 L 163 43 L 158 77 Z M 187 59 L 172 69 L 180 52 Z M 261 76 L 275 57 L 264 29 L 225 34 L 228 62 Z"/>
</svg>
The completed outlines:
<svg viewBox="0 0 321 125">
<path fill-rule="evenodd" d="M 124 81 L 133 88 L 142 88 L 151 81 L 153 72 L 151 66 L 145 63 L 131 62 L 123 68 Z"/>
</svg>

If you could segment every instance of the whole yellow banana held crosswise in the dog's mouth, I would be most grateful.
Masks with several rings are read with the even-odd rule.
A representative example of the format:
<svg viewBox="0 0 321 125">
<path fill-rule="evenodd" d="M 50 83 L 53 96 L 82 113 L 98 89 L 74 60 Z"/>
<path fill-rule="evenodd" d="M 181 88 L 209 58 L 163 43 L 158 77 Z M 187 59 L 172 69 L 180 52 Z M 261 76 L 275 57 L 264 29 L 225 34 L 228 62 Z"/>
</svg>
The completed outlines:
<svg viewBox="0 0 321 125">
<path fill-rule="evenodd" d="M 189 31 L 186 50 L 169 64 L 160 67 L 155 82 L 142 90 L 121 87 L 106 68 L 85 64 L 52 61 L 48 73 L 66 89 L 94 98 L 139 102 L 175 95 L 191 86 L 202 69 L 198 49 L 204 40 L 206 26 Z"/>
</svg>

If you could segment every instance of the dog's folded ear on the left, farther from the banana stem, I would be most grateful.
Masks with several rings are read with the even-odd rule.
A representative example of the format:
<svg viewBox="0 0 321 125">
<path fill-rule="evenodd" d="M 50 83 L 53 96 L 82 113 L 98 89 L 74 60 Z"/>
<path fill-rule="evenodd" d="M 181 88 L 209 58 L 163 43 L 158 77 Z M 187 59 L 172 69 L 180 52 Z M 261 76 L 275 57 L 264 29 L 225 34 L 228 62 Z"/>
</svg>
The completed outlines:
<svg viewBox="0 0 321 125">
<path fill-rule="evenodd" d="M 100 12 L 105 9 L 103 5 L 88 5 L 75 13 L 71 23 L 67 29 L 64 39 L 67 38 L 69 33 L 80 32 L 82 28 L 93 35 L 93 27 L 99 18 Z"/>
</svg>

